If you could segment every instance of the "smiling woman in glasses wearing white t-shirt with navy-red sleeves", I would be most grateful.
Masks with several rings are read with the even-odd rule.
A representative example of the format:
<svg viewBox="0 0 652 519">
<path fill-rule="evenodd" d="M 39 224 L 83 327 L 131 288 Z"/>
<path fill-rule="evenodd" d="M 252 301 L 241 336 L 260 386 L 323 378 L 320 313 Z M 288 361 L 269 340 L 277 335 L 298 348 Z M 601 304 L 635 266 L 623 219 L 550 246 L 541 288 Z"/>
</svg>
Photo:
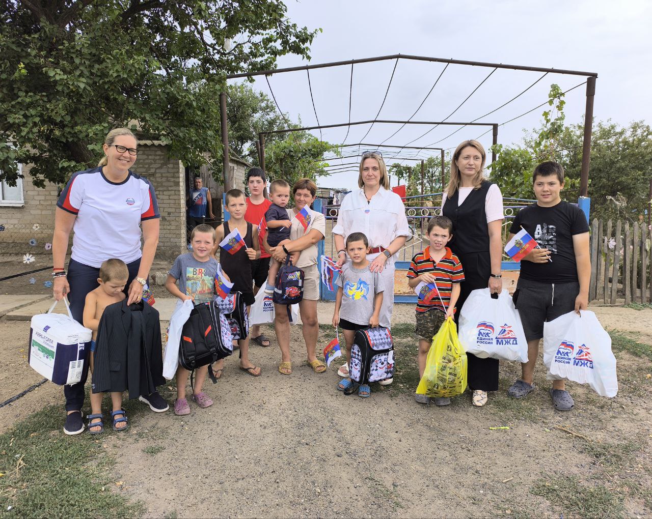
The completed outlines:
<svg viewBox="0 0 652 519">
<path fill-rule="evenodd" d="M 52 238 L 53 292 L 57 301 L 68 297 L 73 318 L 83 324 L 86 295 L 98 287 L 104 260 L 123 260 L 129 270 L 125 287 L 127 304 L 138 303 L 143 294 L 158 244 L 158 203 L 149 181 L 130 170 L 136 161 L 136 137 L 127 128 L 115 128 L 104 139 L 104 157 L 97 167 L 74 173 L 57 201 Z M 72 253 L 65 262 L 70 232 Z M 140 241 L 143 237 L 141 251 Z M 161 372 L 153 372 L 162 384 Z M 84 425 L 82 406 L 88 373 L 82 380 L 64 386 L 67 418 L 64 432 L 80 434 Z M 164 412 L 168 404 L 158 393 L 140 399 L 151 410 Z"/>
</svg>

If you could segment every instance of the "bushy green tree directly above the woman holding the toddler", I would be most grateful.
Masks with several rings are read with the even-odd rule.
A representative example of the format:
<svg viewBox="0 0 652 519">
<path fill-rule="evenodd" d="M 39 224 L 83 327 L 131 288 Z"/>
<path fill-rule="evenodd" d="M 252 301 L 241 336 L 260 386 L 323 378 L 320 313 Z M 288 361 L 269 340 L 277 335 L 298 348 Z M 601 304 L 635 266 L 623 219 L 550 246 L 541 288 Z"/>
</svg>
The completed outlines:
<svg viewBox="0 0 652 519">
<path fill-rule="evenodd" d="M 338 145 L 320 141 L 308 132 L 293 132 L 265 146 L 265 169 L 272 180 L 282 178 L 290 185 L 304 177 L 317 180 L 330 175 L 323 160 L 327 152 L 341 156 Z"/>
</svg>

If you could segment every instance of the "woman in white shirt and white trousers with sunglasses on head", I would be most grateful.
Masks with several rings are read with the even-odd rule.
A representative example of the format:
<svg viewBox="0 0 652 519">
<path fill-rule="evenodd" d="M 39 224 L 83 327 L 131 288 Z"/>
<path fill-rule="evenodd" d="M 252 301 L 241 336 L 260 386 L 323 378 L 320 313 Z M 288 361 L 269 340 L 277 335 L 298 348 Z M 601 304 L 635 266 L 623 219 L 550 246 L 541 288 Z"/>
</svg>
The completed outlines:
<svg viewBox="0 0 652 519">
<path fill-rule="evenodd" d="M 380 310 L 380 326 L 391 327 L 394 306 L 394 262 L 396 254 L 410 236 L 406 208 L 401 198 L 389 189 L 389 177 L 385 161 L 379 153 L 363 154 L 360 162 L 358 188 L 346 195 L 340 204 L 337 224 L 333 227 L 337 263 L 342 266 L 348 260 L 346 237 L 351 232 L 362 232 L 369 240 L 369 270 L 383 277 L 385 292 Z M 348 365 L 337 372 L 349 376 Z M 392 379 L 379 384 L 391 384 Z"/>
</svg>

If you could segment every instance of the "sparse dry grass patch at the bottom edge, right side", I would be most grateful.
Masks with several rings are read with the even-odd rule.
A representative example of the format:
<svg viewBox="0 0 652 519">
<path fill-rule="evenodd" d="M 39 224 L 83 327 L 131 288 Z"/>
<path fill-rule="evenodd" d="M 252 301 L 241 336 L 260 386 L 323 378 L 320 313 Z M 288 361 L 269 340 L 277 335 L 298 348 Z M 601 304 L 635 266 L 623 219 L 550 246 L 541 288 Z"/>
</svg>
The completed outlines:
<svg viewBox="0 0 652 519">
<path fill-rule="evenodd" d="M 602 484 L 583 484 L 575 476 L 544 474 L 529 491 L 547 499 L 566 516 L 622 517 L 625 511 L 623 496 Z"/>
</svg>

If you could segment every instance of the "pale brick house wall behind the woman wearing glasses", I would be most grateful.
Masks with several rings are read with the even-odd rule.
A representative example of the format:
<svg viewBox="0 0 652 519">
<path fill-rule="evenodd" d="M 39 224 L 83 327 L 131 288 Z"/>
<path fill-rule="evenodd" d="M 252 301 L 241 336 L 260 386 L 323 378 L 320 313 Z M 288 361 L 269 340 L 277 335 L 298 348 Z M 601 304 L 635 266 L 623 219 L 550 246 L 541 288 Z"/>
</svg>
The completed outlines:
<svg viewBox="0 0 652 519">
<path fill-rule="evenodd" d="M 231 167 L 235 168 L 236 182 L 242 185 L 248 164 L 233 160 Z M 59 186 L 48 182 L 45 188 L 35 187 L 29 169 L 29 165 L 23 166 L 22 169 L 25 175 L 22 180 L 23 204 L 5 206 L 0 201 L 0 225 L 4 228 L 4 231 L 0 232 L 0 253 L 51 253 L 45 250 L 44 245 L 52 242 Z M 223 186 L 213 180 L 206 168 L 203 170 L 205 171 L 201 176 L 206 175 L 206 180 L 211 180 L 211 196 L 220 201 Z M 156 191 L 161 214 L 156 256 L 168 259 L 185 251 L 188 193 L 185 166 L 178 159 L 169 158 L 168 148 L 160 141 L 139 141 L 134 172 L 147 178 Z M 29 245 L 31 239 L 37 240 L 37 245 Z"/>
</svg>

